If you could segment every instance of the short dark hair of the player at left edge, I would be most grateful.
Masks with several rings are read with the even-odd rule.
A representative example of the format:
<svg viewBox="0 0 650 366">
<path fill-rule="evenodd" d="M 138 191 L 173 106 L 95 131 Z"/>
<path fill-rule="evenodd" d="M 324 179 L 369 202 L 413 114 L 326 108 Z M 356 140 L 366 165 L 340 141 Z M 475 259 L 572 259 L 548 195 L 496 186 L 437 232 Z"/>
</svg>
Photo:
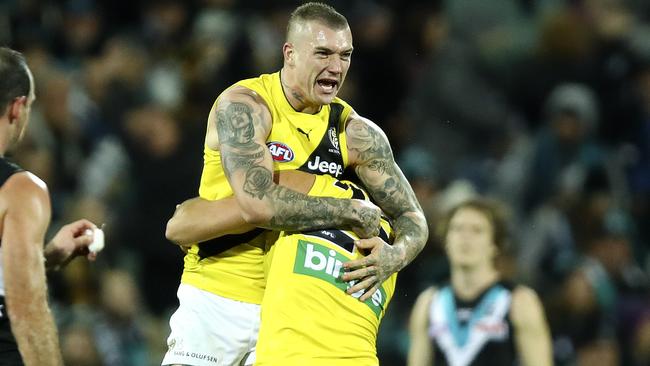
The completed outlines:
<svg viewBox="0 0 650 366">
<path fill-rule="evenodd" d="M 0 111 L 14 98 L 28 96 L 29 74 L 25 57 L 7 47 L 0 47 Z"/>
</svg>

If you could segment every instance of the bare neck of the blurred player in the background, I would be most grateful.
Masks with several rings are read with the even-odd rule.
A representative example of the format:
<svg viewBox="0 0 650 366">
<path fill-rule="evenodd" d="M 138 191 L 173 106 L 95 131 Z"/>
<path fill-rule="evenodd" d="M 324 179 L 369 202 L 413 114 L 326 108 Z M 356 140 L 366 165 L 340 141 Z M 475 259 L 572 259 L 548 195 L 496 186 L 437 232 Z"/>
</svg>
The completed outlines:
<svg viewBox="0 0 650 366">
<path fill-rule="evenodd" d="M 459 298 L 468 301 L 475 299 L 498 280 L 499 272 L 493 266 L 458 267 L 451 271 L 454 292 Z"/>
</svg>

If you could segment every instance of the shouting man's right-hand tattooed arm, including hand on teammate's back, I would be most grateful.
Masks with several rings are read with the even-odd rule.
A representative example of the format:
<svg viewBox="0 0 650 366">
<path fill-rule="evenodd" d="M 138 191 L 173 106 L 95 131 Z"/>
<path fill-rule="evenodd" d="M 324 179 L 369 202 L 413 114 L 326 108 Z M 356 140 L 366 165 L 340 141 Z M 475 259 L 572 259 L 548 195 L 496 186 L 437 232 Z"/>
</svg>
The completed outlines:
<svg viewBox="0 0 650 366">
<path fill-rule="evenodd" d="M 377 238 L 357 246 L 371 254 L 344 264 L 352 272 L 343 279 L 359 280 L 348 290 L 367 289 L 360 300 L 372 296 L 391 274 L 404 268 L 424 247 L 429 230 L 411 185 L 395 163 L 386 135 L 371 121 L 353 115 L 346 127 L 351 163 L 359 179 L 381 209 L 391 218 L 395 241 L 390 246 Z"/>
</svg>

